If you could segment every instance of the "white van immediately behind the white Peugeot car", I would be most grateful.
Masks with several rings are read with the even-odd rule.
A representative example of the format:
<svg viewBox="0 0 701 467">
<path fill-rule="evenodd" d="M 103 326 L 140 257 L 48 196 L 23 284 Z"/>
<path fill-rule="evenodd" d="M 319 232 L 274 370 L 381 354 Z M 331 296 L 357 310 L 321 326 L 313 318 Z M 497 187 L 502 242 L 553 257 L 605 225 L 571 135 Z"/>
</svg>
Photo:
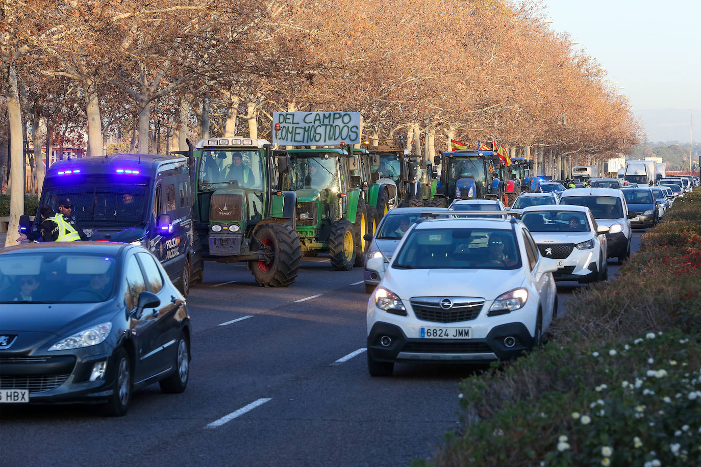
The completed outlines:
<svg viewBox="0 0 701 467">
<path fill-rule="evenodd" d="M 630 256 L 632 230 L 630 219 L 635 213 L 628 210 L 621 190 L 615 188 L 572 188 L 560 195 L 560 204 L 588 207 L 597 225 L 606 225 L 606 257 L 618 258 L 618 262 Z"/>
</svg>

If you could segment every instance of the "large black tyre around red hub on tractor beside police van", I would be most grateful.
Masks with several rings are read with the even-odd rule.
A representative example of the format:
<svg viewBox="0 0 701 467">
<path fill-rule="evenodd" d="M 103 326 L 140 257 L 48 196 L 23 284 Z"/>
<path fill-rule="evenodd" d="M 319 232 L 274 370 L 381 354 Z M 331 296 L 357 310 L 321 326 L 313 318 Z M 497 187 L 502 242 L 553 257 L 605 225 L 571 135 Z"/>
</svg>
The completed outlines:
<svg viewBox="0 0 701 467">
<path fill-rule="evenodd" d="M 297 278 L 302 253 L 299 237 L 288 223 L 268 223 L 255 231 L 262 248 L 273 253 L 271 263 L 251 261 L 253 277 L 264 287 L 287 287 Z"/>
</svg>

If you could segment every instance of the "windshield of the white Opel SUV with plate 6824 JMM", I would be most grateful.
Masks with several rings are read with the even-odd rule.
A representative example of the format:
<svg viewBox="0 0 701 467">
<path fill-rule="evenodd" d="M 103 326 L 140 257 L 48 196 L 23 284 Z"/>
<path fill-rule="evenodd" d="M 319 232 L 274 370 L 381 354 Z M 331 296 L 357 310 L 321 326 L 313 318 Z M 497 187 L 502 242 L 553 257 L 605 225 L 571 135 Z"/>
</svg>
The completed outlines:
<svg viewBox="0 0 701 467">
<path fill-rule="evenodd" d="M 521 256 L 513 230 L 416 228 L 404 240 L 396 269 L 517 269 Z"/>
</svg>

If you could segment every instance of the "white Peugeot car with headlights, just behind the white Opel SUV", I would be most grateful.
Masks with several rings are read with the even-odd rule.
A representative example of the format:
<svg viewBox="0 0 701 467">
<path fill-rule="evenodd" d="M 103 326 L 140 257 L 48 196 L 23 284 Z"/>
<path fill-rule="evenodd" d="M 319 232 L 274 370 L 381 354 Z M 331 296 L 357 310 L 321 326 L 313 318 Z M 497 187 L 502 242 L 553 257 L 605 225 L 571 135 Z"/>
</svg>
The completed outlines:
<svg viewBox="0 0 701 467">
<path fill-rule="evenodd" d="M 608 279 L 608 227 L 597 225 L 588 207 L 527 207 L 521 219 L 536 240 L 540 254 L 557 261 L 557 271 L 552 273 L 556 281 L 588 284 Z"/>
</svg>

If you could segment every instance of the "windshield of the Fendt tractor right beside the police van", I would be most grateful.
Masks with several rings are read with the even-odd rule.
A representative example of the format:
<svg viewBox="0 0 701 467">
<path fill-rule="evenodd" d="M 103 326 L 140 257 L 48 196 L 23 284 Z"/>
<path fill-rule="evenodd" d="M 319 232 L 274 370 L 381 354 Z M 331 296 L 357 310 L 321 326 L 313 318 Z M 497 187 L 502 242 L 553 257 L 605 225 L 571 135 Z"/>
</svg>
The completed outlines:
<svg viewBox="0 0 701 467">
<path fill-rule="evenodd" d="M 200 158 L 200 186 L 231 183 L 241 188 L 263 189 L 261 155 L 253 151 L 205 149 Z"/>
</svg>

